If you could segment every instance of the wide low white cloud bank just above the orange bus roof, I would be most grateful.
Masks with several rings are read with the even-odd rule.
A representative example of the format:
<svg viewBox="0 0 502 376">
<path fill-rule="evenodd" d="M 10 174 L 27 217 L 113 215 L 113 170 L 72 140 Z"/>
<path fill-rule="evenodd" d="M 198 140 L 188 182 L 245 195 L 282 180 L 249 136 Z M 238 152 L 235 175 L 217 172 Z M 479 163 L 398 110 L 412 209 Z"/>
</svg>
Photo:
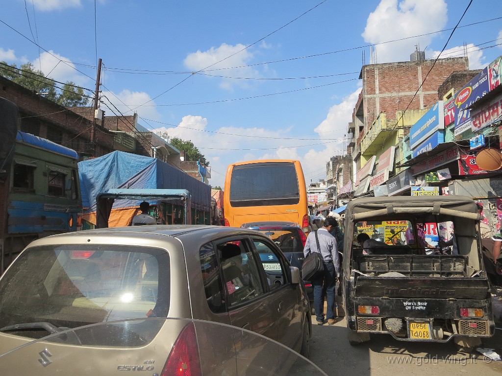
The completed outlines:
<svg viewBox="0 0 502 376">
<path fill-rule="evenodd" d="M 316 180 L 326 173 L 325 163 L 333 155 L 343 155 L 343 135 L 347 132 L 360 89 L 333 105 L 323 120 L 313 130 L 311 140 L 288 140 L 291 127 L 283 129 L 221 127 L 214 132 L 207 132 L 208 119 L 202 116 L 184 116 L 177 127 L 161 127 L 156 131 L 167 132 L 171 137 L 191 140 L 206 157 L 211 166 L 210 184 L 223 186 L 226 168 L 230 163 L 257 159 L 297 159 L 303 166 L 305 178 Z M 242 137 L 260 136 L 264 138 Z M 305 137 L 303 137 L 305 138 Z M 328 140 L 328 138 L 339 140 Z M 301 145 L 315 144 L 306 152 Z M 251 150 L 247 150 L 251 149 Z M 263 150 L 260 150 L 263 149 Z"/>
</svg>

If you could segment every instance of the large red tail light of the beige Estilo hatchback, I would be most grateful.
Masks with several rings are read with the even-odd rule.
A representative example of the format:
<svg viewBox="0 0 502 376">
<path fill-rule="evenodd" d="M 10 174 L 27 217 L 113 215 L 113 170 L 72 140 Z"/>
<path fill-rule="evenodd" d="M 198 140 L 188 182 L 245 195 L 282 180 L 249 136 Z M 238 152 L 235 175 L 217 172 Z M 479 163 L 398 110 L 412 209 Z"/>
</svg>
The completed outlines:
<svg viewBox="0 0 502 376">
<path fill-rule="evenodd" d="M 202 376 L 199 346 L 193 322 L 183 328 L 174 342 L 161 376 Z"/>
</svg>

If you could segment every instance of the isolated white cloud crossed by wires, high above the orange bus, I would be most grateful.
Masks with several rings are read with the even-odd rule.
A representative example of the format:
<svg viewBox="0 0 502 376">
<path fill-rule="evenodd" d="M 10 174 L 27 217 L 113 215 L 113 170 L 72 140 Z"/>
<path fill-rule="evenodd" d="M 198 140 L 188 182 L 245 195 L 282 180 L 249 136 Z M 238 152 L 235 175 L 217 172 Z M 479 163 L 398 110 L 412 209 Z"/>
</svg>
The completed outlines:
<svg viewBox="0 0 502 376">
<path fill-rule="evenodd" d="M 205 70 L 209 67 L 207 71 L 205 71 L 208 75 L 258 78 L 260 76 L 259 72 L 246 66 L 249 61 L 253 59 L 253 54 L 249 50 L 243 50 L 244 48 L 245 46 L 242 44 L 231 46 L 223 43 L 218 48 L 211 47 L 204 52 L 199 50 L 188 54 L 184 60 L 184 64 L 185 67 L 194 72 Z M 231 67 L 239 68 L 221 69 Z M 225 90 L 232 90 L 234 86 L 246 88 L 249 87 L 248 81 L 249 80 L 221 78 L 219 86 Z"/>
</svg>

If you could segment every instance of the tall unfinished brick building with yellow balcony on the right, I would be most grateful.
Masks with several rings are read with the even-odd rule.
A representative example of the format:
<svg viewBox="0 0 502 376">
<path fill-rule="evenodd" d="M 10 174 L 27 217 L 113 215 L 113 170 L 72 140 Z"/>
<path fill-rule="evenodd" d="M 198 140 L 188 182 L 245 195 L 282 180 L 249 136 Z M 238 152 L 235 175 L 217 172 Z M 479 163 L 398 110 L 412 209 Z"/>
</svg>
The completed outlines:
<svg viewBox="0 0 502 376">
<path fill-rule="evenodd" d="M 423 55 L 422 55 L 423 56 Z M 466 57 L 369 64 L 361 69 L 362 90 L 348 125 L 355 196 L 371 190 L 393 174 L 399 143 L 410 127 L 438 101 L 438 88 L 454 72 L 469 69 Z M 425 80 L 425 81 L 424 81 Z M 380 157 L 386 158 L 385 164 Z"/>
</svg>

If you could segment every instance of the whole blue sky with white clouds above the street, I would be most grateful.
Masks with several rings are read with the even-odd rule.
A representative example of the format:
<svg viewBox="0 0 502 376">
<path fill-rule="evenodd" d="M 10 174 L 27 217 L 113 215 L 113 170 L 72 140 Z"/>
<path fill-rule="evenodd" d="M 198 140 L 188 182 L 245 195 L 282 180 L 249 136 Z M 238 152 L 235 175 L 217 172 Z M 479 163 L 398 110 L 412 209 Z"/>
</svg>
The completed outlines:
<svg viewBox="0 0 502 376">
<path fill-rule="evenodd" d="M 191 140 L 223 186 L 228 164 L 262 158 L 299 159 L 307 182 L 324 178 L 346 149 L 363 56 L 409 61 L 419 45 L 436 57 L 469 1 L 4 3 L 0 60 L 93 91 L 101 58 L 105 113 L 136 111 L 145 128 Z M 441 57 L 466 51 L 479 69 L 501 55 L 497 4 L 473 1 Z"/>
</svg>

